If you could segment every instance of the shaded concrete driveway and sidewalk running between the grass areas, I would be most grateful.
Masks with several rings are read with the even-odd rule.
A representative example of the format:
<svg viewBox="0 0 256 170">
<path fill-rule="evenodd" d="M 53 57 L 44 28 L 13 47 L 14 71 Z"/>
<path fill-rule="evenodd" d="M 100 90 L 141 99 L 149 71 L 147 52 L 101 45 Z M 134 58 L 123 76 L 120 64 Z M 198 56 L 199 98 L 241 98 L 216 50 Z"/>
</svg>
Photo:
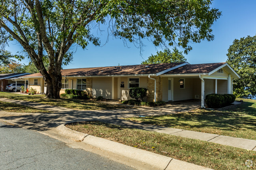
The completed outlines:
<svg viewBox="0 0 256 170">
<path fill-rule="evenodd" d="M 162 126 L 153 126 L 141 124 L 138 122 L 127 121 L 121 118 L 125 117 L 138 117 L 139 115 L 152 116 L 152 115 L 164 115 L 173 114 L 177 112 L 184 112 L 187 110 L 193 110 L 197 106 L 184 108 L 183 106 L 173 106 L 170 110 L 162 108 L 137 108 L 137 109 L 119 109 L 119 110 L 71 110 L 58 106 L 49 106 L 41 103 L 34 103 L 28 101 L 17 101 L 12 99 L 0 98 L 0 101 L 13 102 L 22 104 L 37 109 L 48 110 L 53 113 L 9 113 L 0 111 L 0 117 L 7 122 L 19 124 L 28 129 L 36 131 L 46 131 L 51 128 L 57 127 L 60 124 L 75 121 L 102 121 L 129 128 L 138 128 L 143 130 L 149 130 L 159 133 L 166 133 L 170 135 L 176 135 L 181 137 L 187 137 L 191 139 L 199 139 L 202 141 L 208 141 L 228 146 L 234 146 L 237 148 L 243 148 L 247 150 L 256 151 L 256 141 L 250 139 L 235 138 L 223 135 L 216 135 L 211 133 L 194 132 L 189 130 L 167 128 Z"/>
</svg>

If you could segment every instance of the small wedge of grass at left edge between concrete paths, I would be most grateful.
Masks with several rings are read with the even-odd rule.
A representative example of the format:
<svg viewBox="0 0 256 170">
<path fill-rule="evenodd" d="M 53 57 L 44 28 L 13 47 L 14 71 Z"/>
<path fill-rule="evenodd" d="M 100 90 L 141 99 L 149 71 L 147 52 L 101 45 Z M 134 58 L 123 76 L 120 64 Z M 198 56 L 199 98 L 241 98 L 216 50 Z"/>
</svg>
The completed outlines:
<svg viewBox="0 0 256 170">
<path fill-rule="evenodd" d="M 19 113 L 49 113 L 46 110 L 35 109 L 20 104 L 8 103 L 0 101 L 0 110 L 6 112 L 19 112 Z"/>
</svg>

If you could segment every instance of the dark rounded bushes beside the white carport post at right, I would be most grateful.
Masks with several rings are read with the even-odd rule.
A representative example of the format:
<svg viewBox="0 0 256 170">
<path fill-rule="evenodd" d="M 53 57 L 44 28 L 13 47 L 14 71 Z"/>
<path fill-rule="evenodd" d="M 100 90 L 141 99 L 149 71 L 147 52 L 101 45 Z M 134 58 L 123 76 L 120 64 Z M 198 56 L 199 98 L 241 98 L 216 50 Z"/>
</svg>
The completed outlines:
<svg viewBox="0 0 256 170">
<path fill-rule="evenodd" d="M 235 98 L 233 94 L 209 94 L 206 95 L 206 104 L 209 108 L 222 108 L 233 103 Z"/>
</svg>

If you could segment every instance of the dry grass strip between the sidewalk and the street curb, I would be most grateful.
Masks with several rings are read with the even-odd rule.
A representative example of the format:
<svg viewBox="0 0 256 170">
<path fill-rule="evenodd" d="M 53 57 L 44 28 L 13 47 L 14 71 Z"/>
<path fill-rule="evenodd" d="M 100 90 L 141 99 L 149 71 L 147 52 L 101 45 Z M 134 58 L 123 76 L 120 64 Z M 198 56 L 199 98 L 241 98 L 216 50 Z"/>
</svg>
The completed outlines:
<svg viewBox="0 0 256 170">
<path fill-rule="evenodd" d="M 164 133 L 130 129 L 102 122 L 79 122 L 68 128 L 118 143 L 148 150 L 181 161 L 215 170 L 248 170 L 256 168 L 256 152 Z M 245 165 L 252 160 L 252 168 Z"/>
</svg>

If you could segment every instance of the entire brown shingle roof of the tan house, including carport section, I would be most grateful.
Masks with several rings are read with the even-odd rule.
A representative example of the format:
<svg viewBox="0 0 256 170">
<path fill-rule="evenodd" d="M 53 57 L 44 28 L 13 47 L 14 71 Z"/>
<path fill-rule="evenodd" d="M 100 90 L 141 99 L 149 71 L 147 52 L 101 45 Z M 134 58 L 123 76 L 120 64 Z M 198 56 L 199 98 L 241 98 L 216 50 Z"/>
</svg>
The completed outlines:
<svg viewBox="0 0 256 170">
<path fill-rule="evenodd" d="M 163 64 L 140 64 L 129 66 L 95 67 L 95 68 L 75 68 L 62 69 L 62 76 L 105 76 L 105 75 L 136 75 L 136 74 L 156 74 L 166 69 L 178 66 L 184 62 L 163 63 Z M 226 62 L 207 64 L 187 64 L 185 66 L 168 71 L 164 74 L 191 74 L 209 73 L 222 66 Z M 146 67 L 149 66 L 149 67 Z M 22 77 L 42 77 L 41 73 L 26 75 Z"/>
</svg>

